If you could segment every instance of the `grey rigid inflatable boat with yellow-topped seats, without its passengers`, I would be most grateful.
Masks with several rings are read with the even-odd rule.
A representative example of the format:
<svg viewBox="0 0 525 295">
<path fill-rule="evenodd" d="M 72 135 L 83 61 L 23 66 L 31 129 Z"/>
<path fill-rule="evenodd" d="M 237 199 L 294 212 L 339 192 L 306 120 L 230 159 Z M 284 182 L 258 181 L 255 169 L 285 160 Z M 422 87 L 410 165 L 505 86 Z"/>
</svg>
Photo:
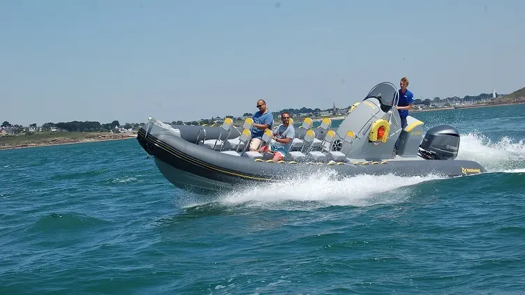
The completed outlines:
<svg viewBox="0 0 525 295">
<path fill-rule="evenodd" d="M 357 174 L 454 177 L 486 171 L 478 162 L 454 160 L 459 133 L 452 126 L 435 126 L 423 137 L 424 123 L 408 116 L 408 125 L 401 129 L 398 101 L 396 86 L 382 82 L 350 107 L 337 128 L 332 128 L 330 119 L 323 119 L 316 128 L 310 118 L 304 119 L 295 128 L 296 138 L 286 158 L 279 162 L 271 160 L 271 153 L 248 151 L 251 118 L 239 127 L 229 118 L 222 126 L 212 127 L 171 126 L 150 117 L 137 139 L 168 181 L 200 193 L 316 172 L 332 171 L 335 178 L 344 178 Z M 271 141 L 272 130 L 266 130 L 261 144 Z"/>
</svg>

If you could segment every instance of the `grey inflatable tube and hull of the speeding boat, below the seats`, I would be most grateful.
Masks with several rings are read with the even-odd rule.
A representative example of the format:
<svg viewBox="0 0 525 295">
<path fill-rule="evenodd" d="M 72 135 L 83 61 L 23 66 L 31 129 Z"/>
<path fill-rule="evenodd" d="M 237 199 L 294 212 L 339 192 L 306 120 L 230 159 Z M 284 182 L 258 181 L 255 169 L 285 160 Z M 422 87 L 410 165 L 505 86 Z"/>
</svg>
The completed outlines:
<svg viewBox="0 0 525 295">
<path fill-rule="evenodd" d="M 170 183 L 184 190 L 216 193 L 250 183 L 268 183 L 284 179 L 306 178 L 311 174 L 330 174 L 343 179 L 359 174 L 397 176 L 466 176 L 485 172 L 469 160 L 406 160 L 356 161 L 338 164 L 323 162 L 274 163 L 213 151 L 169 133 L 147 133 L 141 128 L 138 142 L 154 156 L 160 172 Z"/>
</svg>

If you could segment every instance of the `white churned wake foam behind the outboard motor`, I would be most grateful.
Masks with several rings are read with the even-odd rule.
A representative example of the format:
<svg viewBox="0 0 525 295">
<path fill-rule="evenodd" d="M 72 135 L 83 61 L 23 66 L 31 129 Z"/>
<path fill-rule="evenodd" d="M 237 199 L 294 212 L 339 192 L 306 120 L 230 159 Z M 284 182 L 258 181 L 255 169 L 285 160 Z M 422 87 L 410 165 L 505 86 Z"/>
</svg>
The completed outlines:
<svg viewBox="0 0 525 295">
<path fill-rule="evenodd" d="M 516 173 L 525 169 L 525 142 L 509 137 L 493 142 L 480 133 L 468 133 L 461 135 L 457 159 L 479 162 L 488 172 Z"/>
</svg>

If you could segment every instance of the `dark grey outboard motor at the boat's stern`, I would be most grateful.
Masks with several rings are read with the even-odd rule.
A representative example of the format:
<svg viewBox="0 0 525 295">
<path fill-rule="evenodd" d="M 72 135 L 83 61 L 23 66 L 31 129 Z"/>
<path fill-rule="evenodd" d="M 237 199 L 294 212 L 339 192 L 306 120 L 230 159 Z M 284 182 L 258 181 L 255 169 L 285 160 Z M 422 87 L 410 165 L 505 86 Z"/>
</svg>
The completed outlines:
<svg viewBox="0 0 525 295">
<path fill-rule="evenodd" d="M 418 151 L 427 160 L 454 160 L 459 151 L 459 133 L 448 125 L 430 128 Z"/>
</svg>

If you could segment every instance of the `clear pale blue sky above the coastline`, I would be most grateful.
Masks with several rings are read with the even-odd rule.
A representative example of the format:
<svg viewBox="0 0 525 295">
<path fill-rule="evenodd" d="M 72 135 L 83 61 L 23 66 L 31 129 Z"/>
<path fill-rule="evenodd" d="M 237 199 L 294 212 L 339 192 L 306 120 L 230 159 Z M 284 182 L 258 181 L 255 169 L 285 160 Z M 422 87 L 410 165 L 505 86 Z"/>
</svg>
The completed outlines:
<svg viewBox="0 0 525 295">
<path fill-rule="evenodd" d="M 525 1 L 3 0 L 0 121 L 193 121 L 525 86 Z"/>
</svg>

